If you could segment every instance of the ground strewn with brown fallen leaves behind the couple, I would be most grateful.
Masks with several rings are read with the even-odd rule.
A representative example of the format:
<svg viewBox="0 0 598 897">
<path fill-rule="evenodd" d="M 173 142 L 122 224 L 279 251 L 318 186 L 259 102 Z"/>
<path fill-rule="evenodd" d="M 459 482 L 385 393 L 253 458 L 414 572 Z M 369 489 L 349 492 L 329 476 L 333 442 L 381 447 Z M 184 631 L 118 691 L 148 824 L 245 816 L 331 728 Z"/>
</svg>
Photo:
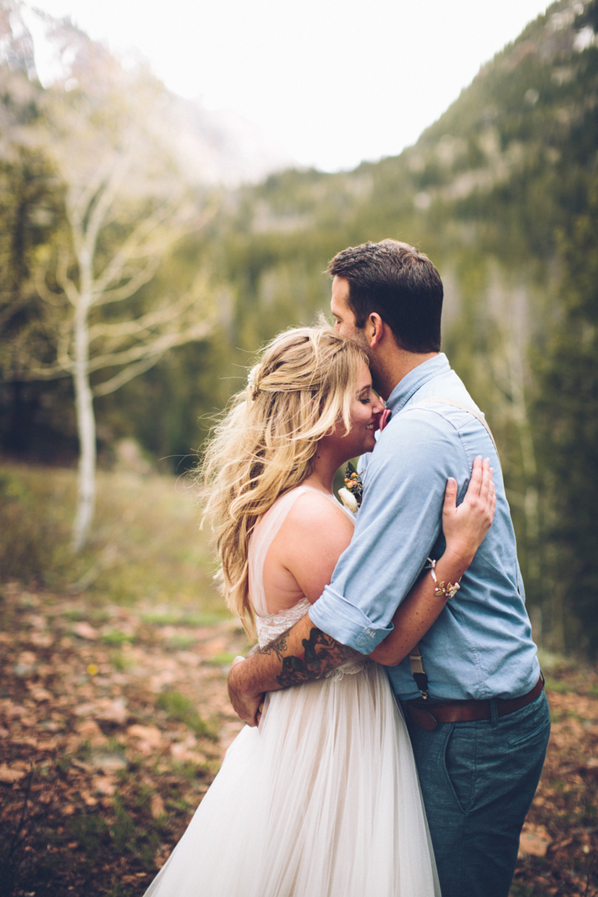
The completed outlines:
<svg viewBox="0 0 598 897">
<path fill-rule="evenodd" d="M 0 882 L 6 895 L 141 895 L 240 724 L 242 632 L 155 607 L 4 587 Z M 548 759 L 514 897 L 598 894 L 598 675 L 555 668 Z M 1 889 L 0 888 L 0 889 Z M 364 895 L 367 897 L 367 895 Z"/>
</svg>

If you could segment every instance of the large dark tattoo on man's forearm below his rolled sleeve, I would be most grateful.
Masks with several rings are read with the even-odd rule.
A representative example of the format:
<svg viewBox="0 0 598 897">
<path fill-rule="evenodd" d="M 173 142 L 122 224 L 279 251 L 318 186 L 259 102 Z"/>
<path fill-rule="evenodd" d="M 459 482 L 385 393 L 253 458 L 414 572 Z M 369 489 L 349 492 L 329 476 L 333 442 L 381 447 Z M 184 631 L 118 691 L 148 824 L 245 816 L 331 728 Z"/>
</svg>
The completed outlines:
<svg viewBox="0 0 598 897">
<path fill-rule="evenodd" d="M 345 660 L 359 656 L 359 651 L 347 648 L 346 645 L 342 645 L 314 626 L 309 633 L 309 638 L 302 641 L 305 650 L 304 657 L 283 657 L 289 632 L 290 630 L 283 632 L 260 651 L 261 654 L 266 655 L 273 652 L 281 661 L 282 673 L 276 676 L 276 681 L 282 688 L 290 688 L 291 685 L 300 685 L 311 682 L 313 679 L 321 679 L 326 673 L 341 666 Z"/>
</svg>

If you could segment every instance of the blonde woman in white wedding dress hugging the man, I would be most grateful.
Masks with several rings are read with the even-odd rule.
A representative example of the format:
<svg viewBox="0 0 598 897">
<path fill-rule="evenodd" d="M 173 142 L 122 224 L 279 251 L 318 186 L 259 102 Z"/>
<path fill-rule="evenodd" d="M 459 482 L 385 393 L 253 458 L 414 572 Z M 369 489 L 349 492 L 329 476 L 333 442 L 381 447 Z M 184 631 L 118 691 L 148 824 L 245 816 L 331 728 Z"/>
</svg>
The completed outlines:
<svg viewBox="0 0 598 897">
<path fill-rule="evenodd" d="M 349 546 L 352 515 L 334 499 L 334 472 L 374 448 L 382 410 L 355 344 L 299 328 L 266 347 L 216 431 L 207 513 L 230 610 L 256 627 L 260 646 L 283 640 Z M 448 584 L 490 526 L 486 462 L 476 459 L 458 509 L 455 499 L 449 480 L 436 565 Z M 413 648 L 446 604 L 436 591 L 424 573 L 373 659 L 351 653 L 334 675 L 267 696 L 259 727 L 230 745 L 146 897 L 439 897 L 409 736 L 375 662 Z"/>
</svg>

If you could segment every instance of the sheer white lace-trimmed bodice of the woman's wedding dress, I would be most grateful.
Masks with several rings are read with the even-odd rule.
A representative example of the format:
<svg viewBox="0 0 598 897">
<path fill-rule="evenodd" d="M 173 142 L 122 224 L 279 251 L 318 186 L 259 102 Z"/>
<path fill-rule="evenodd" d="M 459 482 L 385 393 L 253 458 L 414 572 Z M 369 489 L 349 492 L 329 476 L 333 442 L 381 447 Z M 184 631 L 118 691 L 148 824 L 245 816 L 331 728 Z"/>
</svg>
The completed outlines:
<svg viewBox="0 0 598 897">
<path fill-rule="evenodd" d="M 266 511 L 249 540 L 249 597 L 256 611 L 257 642 L 260 648 L 264 648 L 265 645 L 281 635 L 282 632 L 290 629 L 295 623 L 299 623 L 299 620 L 308 613 L 310 607 L 308 599 L 303 597 L 288 610 L 279 611 L 277 614 L 269 614 L 264 592 L 264 562 L 266 554 L 293 504 L 297 501 L 299 495 L 303 495 L 304 492 L 318 492 L 318 490 L 312 490 L 308 486 L 298 486 L 296 489 L 286 492 L 280 499 L 274 501 L 272 508 Z M 339 509 L 344 511 L 332 495 L 326 497 L 329 497 Z M 348 511 L 346 513 L 352 520 L 352 514 Z M 336 680 L 341 679 L 347 673 L 360 673 L 367 664 L 368 660 L 366 658 L 355 658 L 328 673 L 327 677 Z"/>
</svg>

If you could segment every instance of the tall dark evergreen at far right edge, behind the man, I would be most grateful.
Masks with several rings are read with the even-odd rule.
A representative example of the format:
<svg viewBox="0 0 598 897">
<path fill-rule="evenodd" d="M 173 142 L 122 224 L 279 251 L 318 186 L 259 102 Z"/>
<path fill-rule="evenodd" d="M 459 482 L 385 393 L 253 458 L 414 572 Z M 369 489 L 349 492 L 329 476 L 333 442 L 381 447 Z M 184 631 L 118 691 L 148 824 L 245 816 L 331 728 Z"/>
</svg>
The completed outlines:
<svg viewBox="0 0 598 897">
<path fill-rule="evenodd" d="M 598 177 L 559 248 L 567 270 L 559 316 L 537 361 L 542 455 L 554 515 L 547 527 L 565 646 L 598 652 Z"/>
</svg>

